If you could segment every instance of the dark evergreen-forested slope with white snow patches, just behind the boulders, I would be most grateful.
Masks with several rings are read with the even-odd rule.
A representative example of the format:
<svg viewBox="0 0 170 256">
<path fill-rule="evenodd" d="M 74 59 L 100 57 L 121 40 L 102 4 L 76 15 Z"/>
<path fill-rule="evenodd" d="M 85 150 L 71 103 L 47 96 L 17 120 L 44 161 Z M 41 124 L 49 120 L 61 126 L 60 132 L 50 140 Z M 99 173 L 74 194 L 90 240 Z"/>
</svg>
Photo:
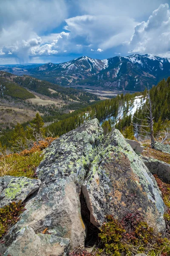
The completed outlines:
<svg viewBox="0 0 170 256">
<path fill-rule="evenodd" d="M 150 89 L 150 99 L 153 107 L 154 127 L 158 130 L 156 128 L 158 122 L 162 125 L 166 120 L 170 120 L 170 78 L 167 81 L 163 79 L 157 86 Z M 134 114 L 138 119 L 145 119 L 147 112 L 145 103 L 147 103 L 147 90 L 143 93 L 121 94 L 113 99 L 94 103 L 68 114 L 51 111 L 52 115 L 44 118 L 51 121 L 57 119 L 57 122 L 46 127 L 45 131 L 46 133 L 50 131 L 53 136 L 61 136 L 79 127 L 86 120 L 97 118 L 101 124 L 107 121 L 110 126 L 116 126 L 122 132 L 127 129 L 129 133 L 134 134 L 131 125 L 132 116 Z M 134 116 L 133 122 L 136 122 Z M 8 131 L 0 137 L 2 146 L 11 145 L 12 133 L 13 131 Z"/>
</svg>

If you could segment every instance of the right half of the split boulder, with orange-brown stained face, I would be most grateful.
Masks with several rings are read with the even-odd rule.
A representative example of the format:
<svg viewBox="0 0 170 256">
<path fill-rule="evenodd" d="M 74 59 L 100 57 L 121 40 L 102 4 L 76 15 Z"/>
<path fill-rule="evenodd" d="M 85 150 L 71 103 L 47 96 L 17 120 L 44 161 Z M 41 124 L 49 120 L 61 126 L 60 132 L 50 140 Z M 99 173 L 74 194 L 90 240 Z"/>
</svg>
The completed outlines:
<svg viewBox="0 0 170 256">
<path fill-rule="evenodd" d="M 82 192 L 97 227 L 107 214 L 122 219 L 139 211 L 156 231 L 165 230 L 164 203 L 155 178 L 116 129 L 91 164 Z"/>
</svg>

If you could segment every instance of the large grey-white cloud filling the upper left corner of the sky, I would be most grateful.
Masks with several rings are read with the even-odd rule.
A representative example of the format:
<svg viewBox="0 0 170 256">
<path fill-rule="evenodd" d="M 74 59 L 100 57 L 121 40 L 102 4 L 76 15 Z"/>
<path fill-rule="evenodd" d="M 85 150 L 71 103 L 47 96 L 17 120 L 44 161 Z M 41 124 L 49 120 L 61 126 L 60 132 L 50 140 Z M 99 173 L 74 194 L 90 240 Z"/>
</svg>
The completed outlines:
<svg viewBox="0 0 170 256">
<path fill-rule="evenodd" d="M 65 0 L 1 2 L 0 49 L 6 55 L 10 51 L 21 62 L 28 61 L 31 49 L 43 43 L 44 36 L 41 38 L 40 34 L 59 26 L 68 15 Z M 49 37 L 46 40 L 49 41 Z M 43 54 L 43 51 L 47 54 L 50 49 L 41 49 L 40 53 Z M 56 50 L 52 49 L 51 53 L 56 53 Z"/>
</svg>

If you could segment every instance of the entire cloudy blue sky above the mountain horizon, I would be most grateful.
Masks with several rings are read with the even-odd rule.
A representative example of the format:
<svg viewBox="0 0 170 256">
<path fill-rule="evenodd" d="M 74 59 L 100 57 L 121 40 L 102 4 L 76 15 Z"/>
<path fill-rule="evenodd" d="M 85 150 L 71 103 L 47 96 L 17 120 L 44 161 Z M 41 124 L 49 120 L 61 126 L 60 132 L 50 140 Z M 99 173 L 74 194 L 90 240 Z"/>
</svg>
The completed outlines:
<svg viewBox="0 0 170 256">
<path fill-rule="evenodd" d="M 0 64 L 170 57 L 170 0 L 0 0 Z"/>
</svg>

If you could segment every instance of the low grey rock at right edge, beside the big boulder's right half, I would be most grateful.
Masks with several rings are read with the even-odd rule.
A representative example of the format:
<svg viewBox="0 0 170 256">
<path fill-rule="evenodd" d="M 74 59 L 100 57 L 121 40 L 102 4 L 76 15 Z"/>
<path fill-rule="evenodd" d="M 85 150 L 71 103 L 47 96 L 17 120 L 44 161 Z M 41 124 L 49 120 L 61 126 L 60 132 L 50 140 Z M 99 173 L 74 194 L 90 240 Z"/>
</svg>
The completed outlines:
<svg viewBox="0 0 170 256">
<path fill-rule="evenodd" d="M 170 164 L 150 157 L 141 157 L 152 174 L 158 175 L 163 182 L 170 183 Z"/>
</svg>

